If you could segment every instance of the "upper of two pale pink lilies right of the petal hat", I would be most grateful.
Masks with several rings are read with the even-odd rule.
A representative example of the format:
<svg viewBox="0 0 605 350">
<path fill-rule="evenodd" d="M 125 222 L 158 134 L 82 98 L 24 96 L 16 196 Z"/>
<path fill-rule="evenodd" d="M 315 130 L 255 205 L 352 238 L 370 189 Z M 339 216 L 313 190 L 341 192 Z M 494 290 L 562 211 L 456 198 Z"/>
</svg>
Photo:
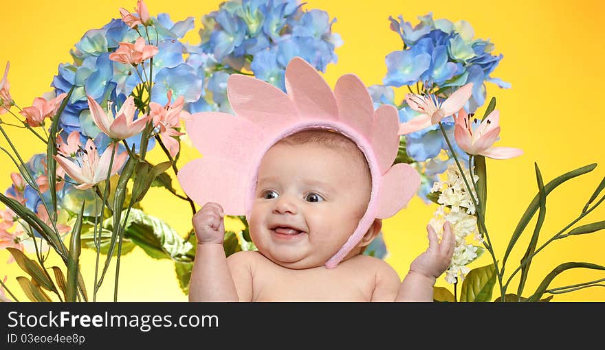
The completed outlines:
<svg viewBox="0 0 605 350">
<path fill-rule="evenodd" d="M 415 93 L 406 94 L 408 106 L 420 112 L 421 115 L 406 123 L 399 124 L 399 135 L 406 135 L 410 132 L 428 128 L 432 124 L 439 123 L 441 119 L 456 113 L 470 99 L 472 86 L 472 82 L 463 85 L 441 104 L 431 96 L 416 95 Z"/>
</svg>

